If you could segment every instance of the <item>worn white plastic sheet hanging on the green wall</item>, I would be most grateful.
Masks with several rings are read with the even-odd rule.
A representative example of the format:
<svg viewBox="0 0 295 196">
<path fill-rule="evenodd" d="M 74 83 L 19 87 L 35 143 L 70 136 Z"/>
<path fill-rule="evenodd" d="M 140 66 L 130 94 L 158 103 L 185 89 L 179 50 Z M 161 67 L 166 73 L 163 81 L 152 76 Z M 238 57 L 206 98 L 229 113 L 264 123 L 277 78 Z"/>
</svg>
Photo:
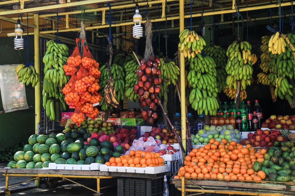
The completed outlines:
<svg viewBox="0 0 295 196">
<path fill-rule="evenodd" d="M 16 67 L 17 65 L 0 65 L 0 90 L 5 113 L 29 108 L 25 85 L 19 82 Z"/>
</svg>

